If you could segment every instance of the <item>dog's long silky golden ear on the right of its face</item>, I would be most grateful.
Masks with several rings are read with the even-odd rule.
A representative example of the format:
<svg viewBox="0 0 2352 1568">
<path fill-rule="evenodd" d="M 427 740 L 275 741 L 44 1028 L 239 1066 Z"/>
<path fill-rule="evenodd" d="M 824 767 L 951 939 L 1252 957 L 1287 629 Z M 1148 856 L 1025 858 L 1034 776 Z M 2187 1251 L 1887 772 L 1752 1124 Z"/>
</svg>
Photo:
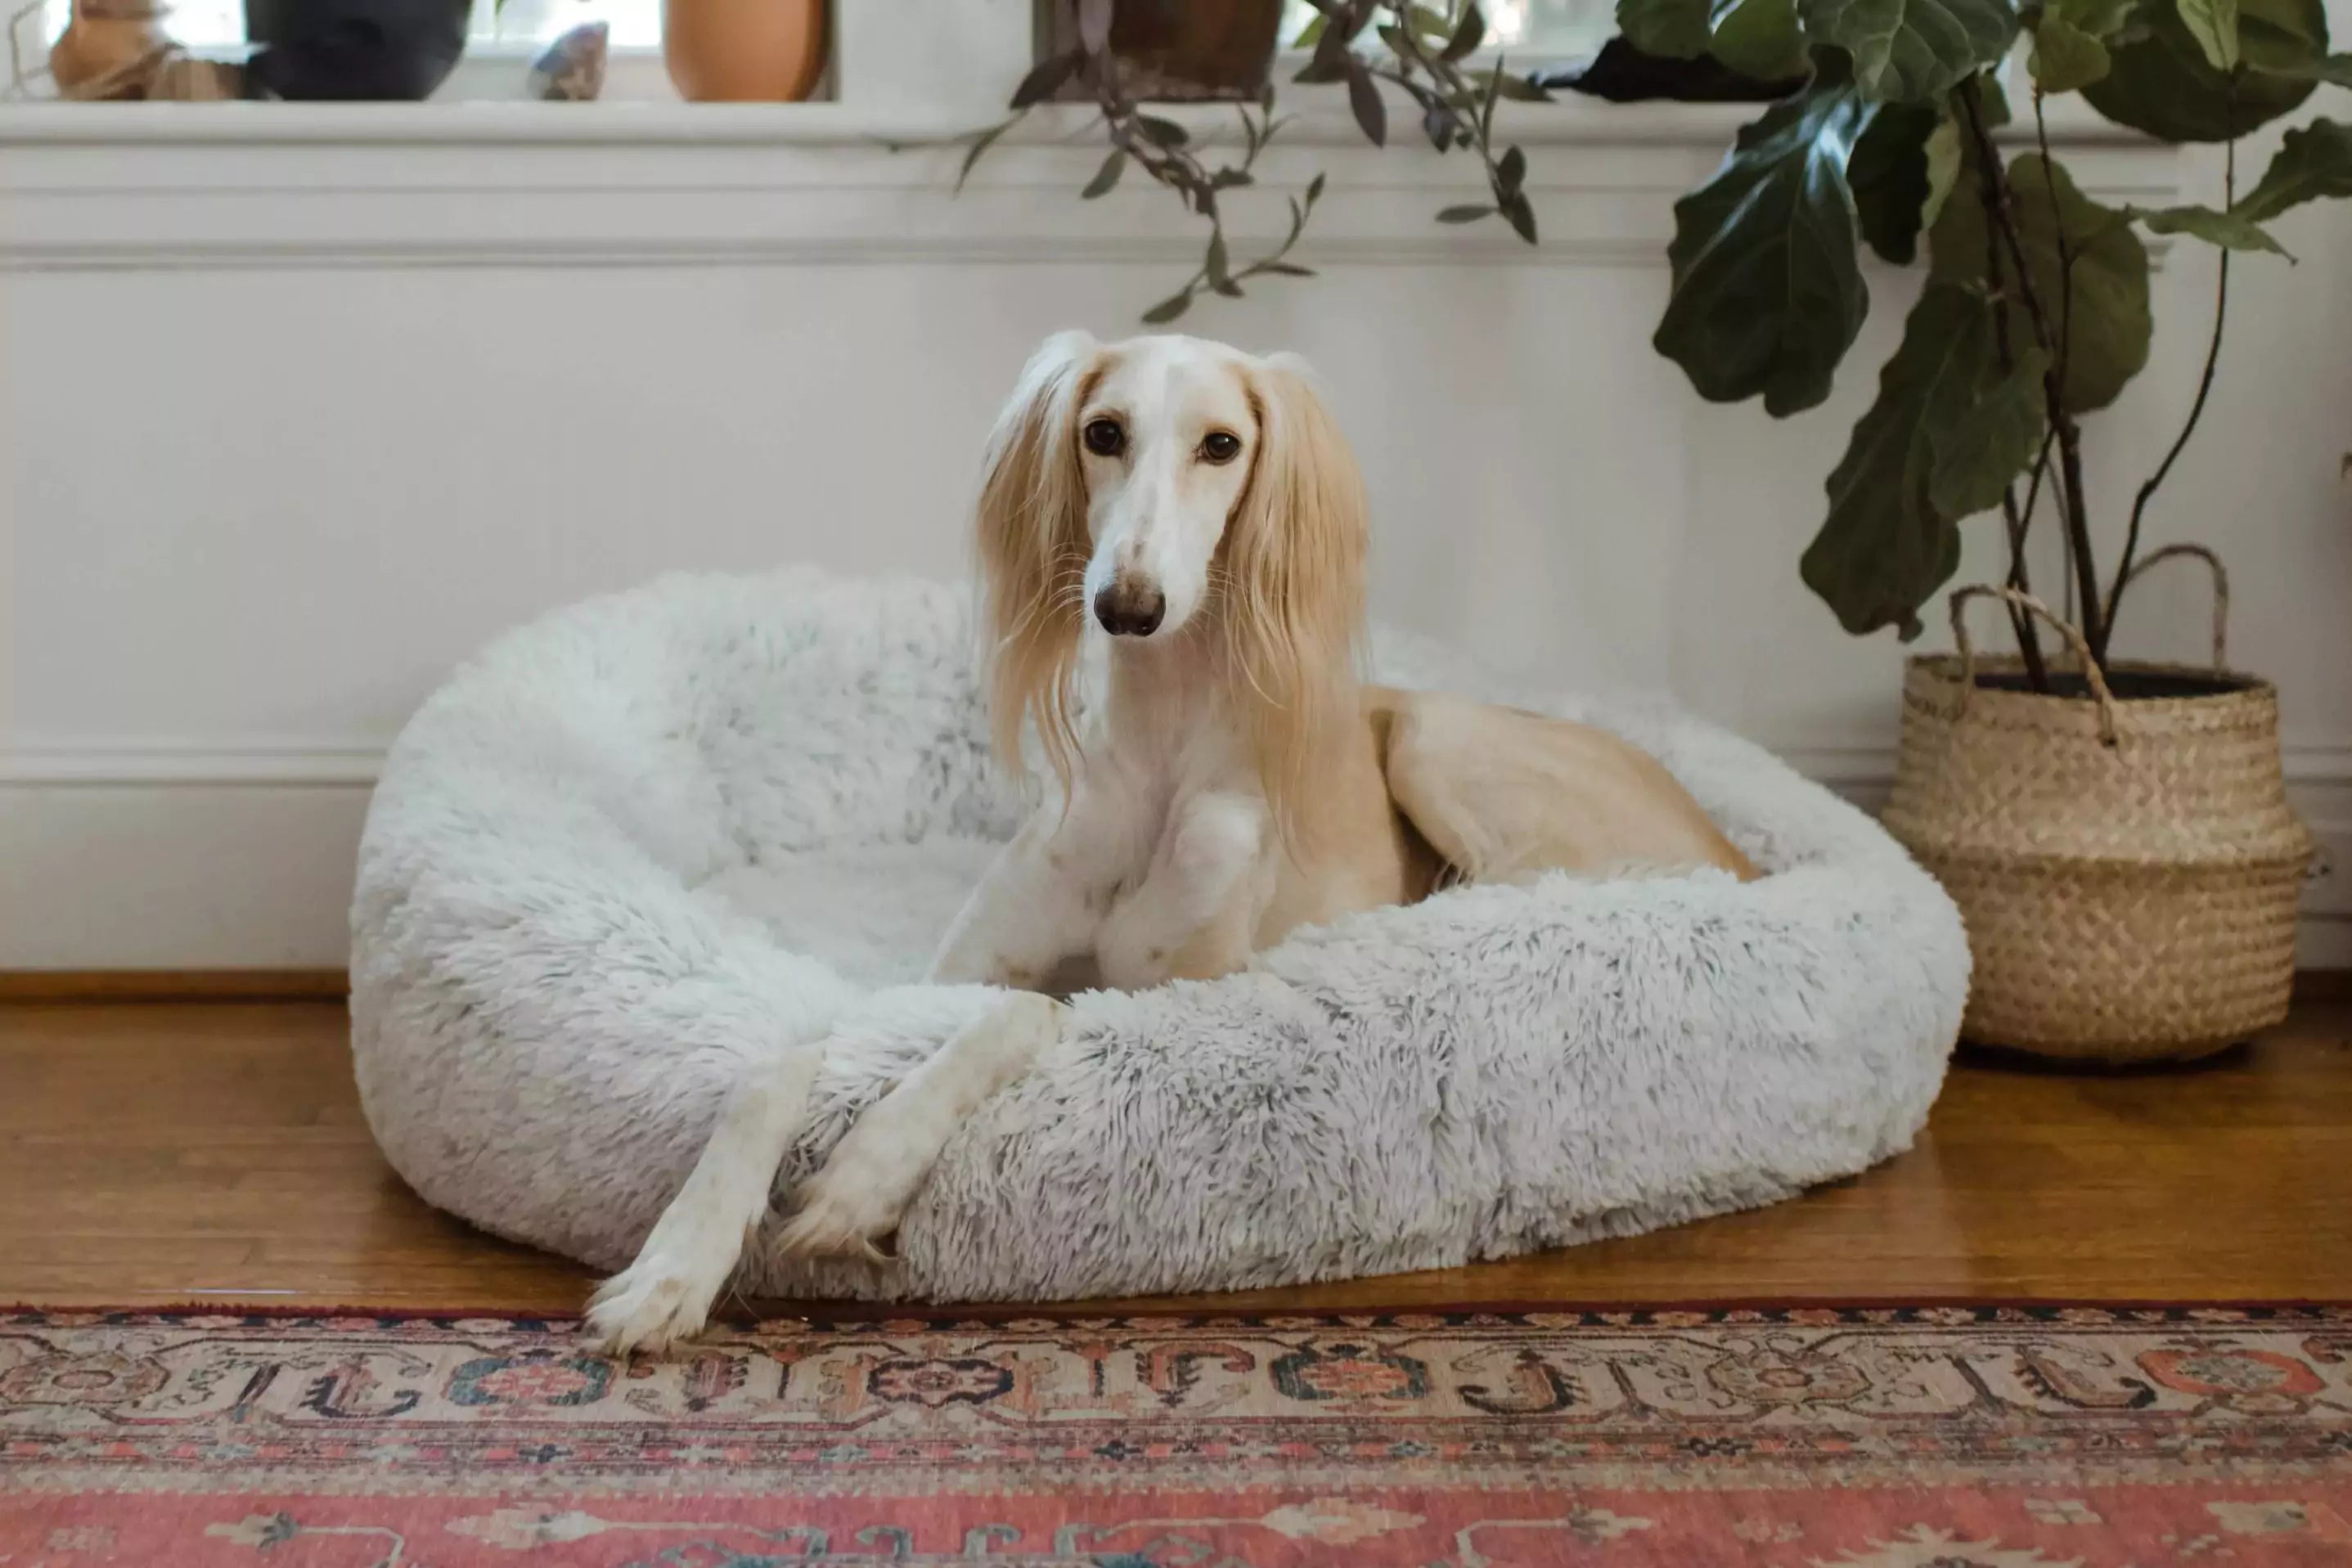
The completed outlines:
<svg viewBox="0 0 2352 1568">
<path fill-rule="evenodd" d="M 1301 360 L 1275 355 L 1247 378 L 1258 454 L 1225 531 L 1225 639 L 1251 698 L 1258 780 L 1298 849 L 1315 832 L 1315 757 L 1357 722 L 1364 475 Z"/>
</svg>

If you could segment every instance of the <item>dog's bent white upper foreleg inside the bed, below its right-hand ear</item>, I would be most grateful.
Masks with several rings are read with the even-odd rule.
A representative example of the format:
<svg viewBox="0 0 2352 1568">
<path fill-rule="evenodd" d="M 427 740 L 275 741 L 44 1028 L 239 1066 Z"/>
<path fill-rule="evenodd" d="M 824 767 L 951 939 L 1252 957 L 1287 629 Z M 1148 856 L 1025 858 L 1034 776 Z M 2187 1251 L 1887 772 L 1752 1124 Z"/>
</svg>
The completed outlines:
<svg viewBox="0 0 2352 1568">
<path fill-rule="evenodd" d="M 1249 969 L 1279 853 L 1268 839 L 1263 799 L 1218 790 L 1183 802 L 1143 886 L 1103 922 L 1103 980 L 1145 990 Z"/>
</svg>

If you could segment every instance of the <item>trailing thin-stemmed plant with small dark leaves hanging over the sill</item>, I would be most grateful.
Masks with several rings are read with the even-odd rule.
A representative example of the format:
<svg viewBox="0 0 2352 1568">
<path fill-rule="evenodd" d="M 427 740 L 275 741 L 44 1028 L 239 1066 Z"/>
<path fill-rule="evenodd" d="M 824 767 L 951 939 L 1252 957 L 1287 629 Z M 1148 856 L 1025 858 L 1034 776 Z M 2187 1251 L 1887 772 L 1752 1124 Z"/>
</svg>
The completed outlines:
<svg viewBox="0 0 2352 1568">
<path fill-rule="evenodd" d="M 1501 214 L 1512 230 L 1536 242 L 1536 212 L 1526 200 L 1526 153 L 1505 146 L 1496 153 L 1494 108 L 1498 99 L 1548 101 L 1541 87 L 1515 78 L 1498 59 L 1491 68 L 1470 68 L 1468 61 L 1486 38 L 1486 19 L 1477 0 L 1458 0 L 1444 9 L 1430 5 L 1388 5 L 1383 0 L 1312 0 L 1319 12 L 1298 35 L 1296 47 L 1312 49 L 1296 82 L 1345 82 L 1348 106 L 1357 127 L 1374 146 L 1388 146 L 1388 101 L 1381 82 L 1402 89 L 1421 110 L 1421 132 L 1439 153 L 1465 148 L 1477 153 L 1486 172 L 1491 202 L 1446 207 L 1439 223 L 1470 223 Z M 1084 82 L 1101 110 L 1101 125 L 1110 141 L 1110 153 L 1101 169 L 1080 190 L 1084 200 L 1108 195 L 1129 167 L 1141 169 L 1155 183 L 1167 186 L 1185 205 L 1185 212 L 1207 219 L 1209 244 L 1200 268 L 1176 294 L 1143 313 L 1150 324 L 1174 322 L 1192 308 L 1200 294 L 1242 296 L 1242 284 L 1251 277 L 1312 277 L 1312 268 L 1291 261 L 1291 249 L 1305 233 L 1315 202 L 1322 200 L 1324 176 L 1315 174 L 1303 195 L 1287 197 L 1291 209 L 1289 230 L 1263 254 L 1237 261 L 1225 237 L 1225 212 L 1221 197 L 1256 183 L 1258 155 L 1275 134 L 1289 125 L 1275 115 L 1272 85 L 1258 101 L 1235 103 L 1242 125 L 1242 158 L 1218 150 L 1211 162 L 1209 148 L 1192 141 L 1176 120 L 1150 115 L 1136 103 L 1120 59 L 1110 49 L 1112 0 L 1077 0 L 1077 42 L 1040 61 L 1014 89 L 1011 115 L 971 136 L 957 188 L 969 179 L 971 167 L 995 141 L 1018 125 L 1030 108 L 1049 101 L 1073 80 Z M 1385 56 L 1369 56 L 1355 45 L 1367 28 L 1385 45 Z M 1256 110 L 1256 113 L 1251 113 Z"/>
</svg>

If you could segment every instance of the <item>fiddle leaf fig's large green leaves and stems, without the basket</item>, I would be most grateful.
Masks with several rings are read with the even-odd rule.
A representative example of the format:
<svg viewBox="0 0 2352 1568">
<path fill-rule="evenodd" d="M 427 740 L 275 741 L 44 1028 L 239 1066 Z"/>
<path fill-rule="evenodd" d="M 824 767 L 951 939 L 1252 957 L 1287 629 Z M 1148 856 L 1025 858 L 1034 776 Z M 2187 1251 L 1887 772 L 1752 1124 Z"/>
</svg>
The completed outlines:
<svg viewBox="0 0 2352 1568">
<path fill-rule="evenodd" d="M 1980 515 L 1999 517 L 2009 583 L 2032 588 L 2025 541 L 2046 503 L 2072 618 L 2105 663 L 2150 501 L 2213 388 L 2232 259 L 2293 261 L 2270 221 L 2352 195 L 2352 129 L 2326 118 L 2288 129 L 2239 190 L 2239 136 L 2324 85 L 2352 87 L 2319 0 L 1618 0 L 1616 16 L 1642 54 L 1712 56 L 1759 80 L 1802 61 L 1802 82 L 1675 205 L 1653 343 L 1700 397 L 1759 397 L 1773 418 L 1820 404 L 1870 310 L 1860 249 L 1924 263 L 1877 400 L 1830 470 L 1806 585 L 1849 632 L 1915 637 Z M 1997 136 L 2020 35 L 2030 136 Z M 2223 202 L 2140 209 L 2084 193 L 2051 155 L 2046 101 L 2065 92 L 2164 141 L 2223 143 Z M 2107 564 L 2082 416 L 2147 367 L 2145 233 L 2213 249 L 2213 324 L 2187 418 Z M 2027 679 L 2049 691 L 2032 623 L 2013 625 Z"/>
</svg>

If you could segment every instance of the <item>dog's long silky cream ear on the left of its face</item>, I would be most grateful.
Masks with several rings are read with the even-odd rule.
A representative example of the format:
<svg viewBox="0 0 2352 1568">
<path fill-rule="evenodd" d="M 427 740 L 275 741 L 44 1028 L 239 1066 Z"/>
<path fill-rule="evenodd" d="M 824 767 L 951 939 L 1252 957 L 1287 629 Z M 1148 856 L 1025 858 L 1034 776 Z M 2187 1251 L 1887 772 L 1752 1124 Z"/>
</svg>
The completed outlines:
<svg viewBox="0 0 2352 1568">
<path fill-rule="evenodd" d="M 997 759 L 1023 771 L 1021 729 L 1035 717 L 1065 788 L 1077 759 L 1070 689 L 1087 625 L 1089 550 L 1073 425 L 1096 353 L 1084 331 L 1058 331 L 1030 355 L 988 437 L 976 520 Z"/>
</svg>

